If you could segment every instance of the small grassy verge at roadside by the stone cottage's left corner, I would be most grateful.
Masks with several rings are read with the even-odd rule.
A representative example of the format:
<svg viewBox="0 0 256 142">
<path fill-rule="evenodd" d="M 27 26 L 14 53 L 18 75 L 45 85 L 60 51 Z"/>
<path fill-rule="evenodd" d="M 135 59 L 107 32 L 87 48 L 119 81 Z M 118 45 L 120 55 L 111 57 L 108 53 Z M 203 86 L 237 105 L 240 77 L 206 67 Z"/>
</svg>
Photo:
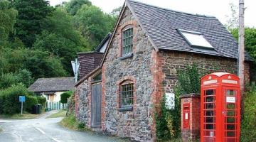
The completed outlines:
<svg viewBox="0 0 256 142">
<path fill-rule="evenodd" d="M 60 121 L 60 125 L 68 128 L 68 129 L 72 129 L 72 130 L 76 130 L 76 131 L 89 131 L 90 130 L 85 127 L 85 124 L 76 121 L 74 114 L 71 114 L 70 116 L 66 116 L 62 121 Z"/>
</svg>

